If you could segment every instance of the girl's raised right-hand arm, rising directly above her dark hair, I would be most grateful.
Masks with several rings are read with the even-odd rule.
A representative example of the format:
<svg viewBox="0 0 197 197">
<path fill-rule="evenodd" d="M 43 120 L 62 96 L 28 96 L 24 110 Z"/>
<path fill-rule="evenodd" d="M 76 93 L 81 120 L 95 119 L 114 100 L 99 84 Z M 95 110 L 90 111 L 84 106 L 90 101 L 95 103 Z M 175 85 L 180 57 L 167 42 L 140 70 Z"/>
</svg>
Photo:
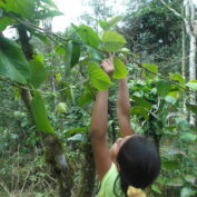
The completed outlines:
<svg viewBox="0 0 197 197">
<path fill-rule="evenodd" d="M 117 116 L 121 137 L 132 135 L 134 131 L 130 126 L 130 102 L 129 102 L 129 91 L 127 87 L 127 78 L 119 80 L 117 98 Z"/>
</svg>

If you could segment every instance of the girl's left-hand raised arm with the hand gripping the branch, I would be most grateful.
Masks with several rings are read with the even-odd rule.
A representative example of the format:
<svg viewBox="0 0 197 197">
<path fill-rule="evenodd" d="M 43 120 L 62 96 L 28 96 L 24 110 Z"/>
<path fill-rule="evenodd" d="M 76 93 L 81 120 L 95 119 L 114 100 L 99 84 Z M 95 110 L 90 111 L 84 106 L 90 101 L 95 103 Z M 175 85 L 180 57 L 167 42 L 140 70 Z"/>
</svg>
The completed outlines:
<svg viewBox="0 0 197 197">
<path fill-rule="evenodd" d="M 107 73 L 112 72 L 111 60 L 101 65 Z M 90 138 L 98 178 L 101 180 L 111 166 L 107 145 L 108 90 L 98 91 L 91 117 Z"/>
</svg>

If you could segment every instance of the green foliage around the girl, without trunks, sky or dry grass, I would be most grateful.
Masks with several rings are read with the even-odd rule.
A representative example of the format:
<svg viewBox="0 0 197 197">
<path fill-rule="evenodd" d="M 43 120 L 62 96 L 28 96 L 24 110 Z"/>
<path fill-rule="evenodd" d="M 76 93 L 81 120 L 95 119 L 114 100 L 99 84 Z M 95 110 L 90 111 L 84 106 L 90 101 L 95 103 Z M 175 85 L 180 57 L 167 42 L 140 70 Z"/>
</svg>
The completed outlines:
<svg viewBox="0 0 197 197">
<path fill-rule="evenodd" d="M 174 1 L 173 6 L 178 2 Z M 95 93 L 110 87 L 115 95 L 117 79 L 128 75 L 132 127 L 137 132 L 152 137 L 161 152 L 162 171 L 151 186 L 151 193 L 155 196 L 195 195 L 197 135 L 196 128 L 189 127 L 183 98 L 188 99 L 188 88 L 197 90 L 197 81 L 187 81 L 179 72 L 159 75 L 159 59 L 154 62 L 146 60 L 145 63 L 139 63 L 140 66 L 135 62 L 140 50 L 152 56 L 158 48 L 170 48 L 180 39 L 180 28 L 177 26 L 180 21 L 166 9 L 161 9 L 155 0 L 147 3 L 149 7 L 144 4 L 140 11 L 125 18 L 129 26 L 122 33 L 117 28 L 122 17 L 117 16 L 109 20 L 99 20 L 97 26 L 100 26 L 100 32 L 86 24 L 72 24 L 68 32 L 53 36 L 41 35 L 38 28 L 43 19 L 61 14 L 51 0 L 0 2 L 0 30 L 10 24 L 14 28 L 22 26 L 30 33 L 29 39 L 35 49 L 31 60 L 26 59 L 23 46 L 18 40 L 0 37 L 0 107 L 4 109 L 0 119 L 1 157 L 7 148 L 13 151 L 20 141 L 19 152 L 23 154 L 23 157 L 37 149 L 41 155 L 42 132 L 56 135 L 70 150 L 67 149 L 66 155 L 76 169 L 72 178 L 79 183 L 82 171 L 76 162 L 78 158 L 82 158 L 80 167 L 86 166 L 85 147 L 88 144 Z M 21 7 L 26 8 L 24 11 Z M 136 22 L 139 19 L 140 26 Z M 27 21 L 31 26 L 27 24 Z M 128 36 L 132 40 L 128 39 Z M 53 42 L 50 41 L 51 38 Z M 124 48 L 126 43 L 131 50 Z M 147 49 L 151 43 L 156 48 Z M 170 52 L 167 51 L 165 56 L 168 57 Z M 109 78 L 99 63 L 111 53 L 115 56 L 115 72 L 112 78 Z M 124 53 L 124 59 L 120 53 Z M 125 65 L 125 58 L 130 62 Z M 32 95 L 31 111 L 27 111 L 21 102 L 21 88 Z M 115 96 L 110 97 L 110 110 L 115 111 Z M 197 106 L 188 102 L 186 107 L 197 114 Z M 32 115 L 35 125 L 28 112 Z M 110 117 L 109 141 L 114 125 L 115 120 Z M 114 129 L 118 134 L 118 128 Z M 40 156 L 36 159 L 38 158 Z M 10 160 L 8 162 L 11 164 Z M 26 161 L 22 161 L 23 164 Z M 38 166 L 42 167 L 43 164 Z M 10 169 L 3 168 L 1 171 L 3 170 L 4 176 Z M 28 183 L 47 179 L 48 171 L 38 171 L 28 177 Z"/>
</svg>

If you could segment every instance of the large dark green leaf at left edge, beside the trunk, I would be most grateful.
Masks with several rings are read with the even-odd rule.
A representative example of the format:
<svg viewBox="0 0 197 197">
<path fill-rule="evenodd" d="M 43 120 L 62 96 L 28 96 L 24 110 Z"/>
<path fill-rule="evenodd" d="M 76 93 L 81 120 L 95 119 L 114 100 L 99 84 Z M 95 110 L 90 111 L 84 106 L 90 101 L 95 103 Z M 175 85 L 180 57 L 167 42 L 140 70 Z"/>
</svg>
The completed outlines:
<svg viewBox="0 0 197 197">
<path fill-rule="evenodd" d="M 0 37 L 0 75 L 20 83 L 27 83 L 30 67 L 21 48 L 9 39 Z"/>
</svg>

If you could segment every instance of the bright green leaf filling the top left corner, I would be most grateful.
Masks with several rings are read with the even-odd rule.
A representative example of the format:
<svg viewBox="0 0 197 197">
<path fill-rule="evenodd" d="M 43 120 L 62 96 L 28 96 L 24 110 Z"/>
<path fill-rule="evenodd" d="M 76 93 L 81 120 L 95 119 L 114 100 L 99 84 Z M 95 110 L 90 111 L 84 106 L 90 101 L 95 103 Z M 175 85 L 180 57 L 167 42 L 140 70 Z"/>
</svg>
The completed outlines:
<svg viewBox="0 0 197 197">
<path fill-rule="evenodd" d="M 32 18 L 35 0 L 4 0 L 0 1 L 0 8 L 7 12 L 18 13 L 23 18 Z"/>
</svg>

